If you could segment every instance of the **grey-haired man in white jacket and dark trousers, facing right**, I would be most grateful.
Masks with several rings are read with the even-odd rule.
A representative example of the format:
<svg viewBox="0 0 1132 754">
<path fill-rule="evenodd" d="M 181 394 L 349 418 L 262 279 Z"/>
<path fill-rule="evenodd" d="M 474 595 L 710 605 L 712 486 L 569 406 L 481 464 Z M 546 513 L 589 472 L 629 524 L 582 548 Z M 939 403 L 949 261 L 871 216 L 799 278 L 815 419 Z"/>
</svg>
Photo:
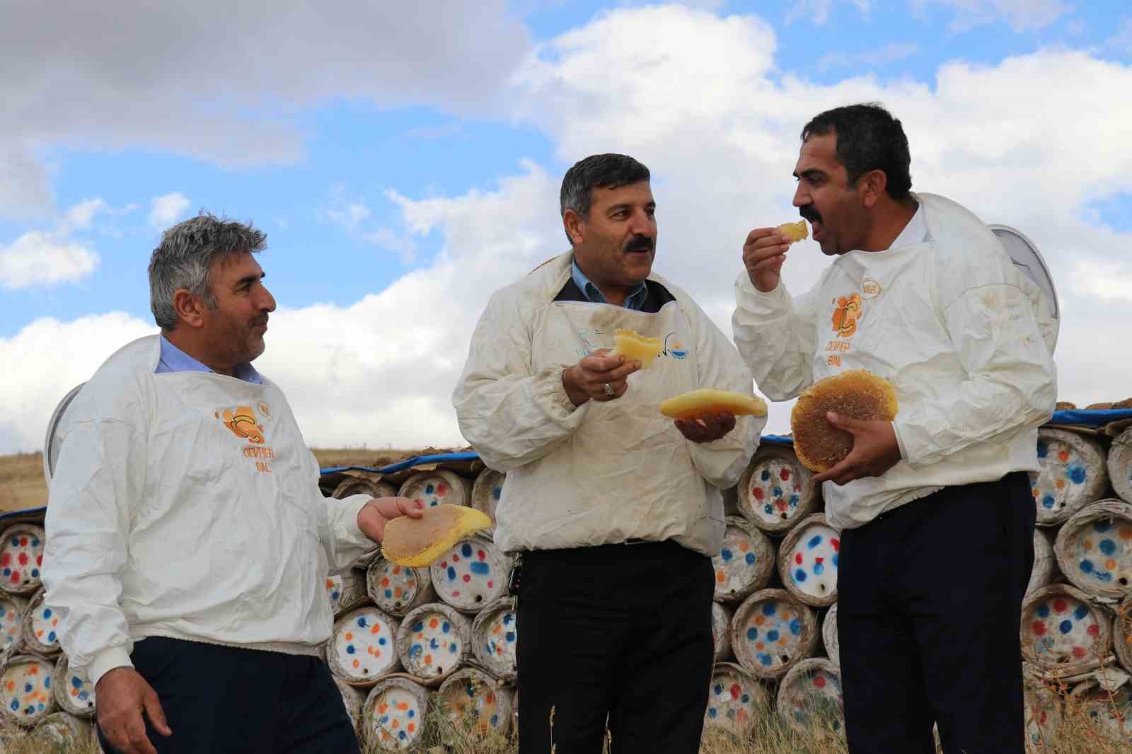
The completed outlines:
<svg viewBox="0 0 1132 754">
<path fill-rule="evenodd" d="M 204 213 L 169 229 L 149 263 L 161 333 L 69 410 L 43 582 L 109 752 L 358 752 L 318 658 L 323 583 L 419 504 L 319 491 L 286 399 L 251 366 L 275 309 L 265 243 Z"/>
</svg>

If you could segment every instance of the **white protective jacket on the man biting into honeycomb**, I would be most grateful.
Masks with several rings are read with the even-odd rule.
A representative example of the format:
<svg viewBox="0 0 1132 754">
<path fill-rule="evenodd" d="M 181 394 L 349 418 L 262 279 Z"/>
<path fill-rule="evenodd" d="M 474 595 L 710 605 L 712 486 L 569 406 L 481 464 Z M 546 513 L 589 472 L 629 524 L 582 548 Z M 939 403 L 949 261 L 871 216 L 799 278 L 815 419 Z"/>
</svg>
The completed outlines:
<svg viewBox="0 0 1132 754">
<path fill-rule="evenodd" d="M 834 259 L 791 300 L 736 281 L 736 344 L 775 401 L 846 369 L 892 382 L 902 461 L 881 477 L 825 482 L 839 529 L 945 486 L 1037 471 L 1037 427 L 1056 403 L 1056 323 L 995 234 L 941 196 L 915 194 L 924 242 Z"/>
</svg>

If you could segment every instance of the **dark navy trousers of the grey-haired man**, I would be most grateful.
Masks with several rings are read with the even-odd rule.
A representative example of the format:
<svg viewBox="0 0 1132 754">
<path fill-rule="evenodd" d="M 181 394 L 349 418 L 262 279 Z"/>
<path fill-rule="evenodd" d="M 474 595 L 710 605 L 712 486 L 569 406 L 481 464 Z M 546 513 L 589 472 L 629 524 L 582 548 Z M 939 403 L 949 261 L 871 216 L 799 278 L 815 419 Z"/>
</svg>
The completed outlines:
<svg viewBox="0 0 1132 754">
<path fill-rule="evenodd" d="M 130 659 L 173 731 L 166 738 L 146 720 L 158 754 L 358 754 L 342 695 L 317 657 L 152 636 Z M 117 753 L 102 730 L 98 743 Z"/>
</svg>

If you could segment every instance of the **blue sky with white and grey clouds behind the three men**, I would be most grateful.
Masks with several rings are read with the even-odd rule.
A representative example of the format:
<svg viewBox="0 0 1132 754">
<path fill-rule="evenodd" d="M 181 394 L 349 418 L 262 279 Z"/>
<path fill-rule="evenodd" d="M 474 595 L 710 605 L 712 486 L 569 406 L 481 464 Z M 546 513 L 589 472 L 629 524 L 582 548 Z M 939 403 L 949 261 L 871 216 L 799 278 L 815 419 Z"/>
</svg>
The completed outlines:
<svg viewBox="0 0 1132 754">
<path fill-rule="evenodd" d="M 293 385 L 312 444 L 460 442 L 448 400 L 470 327 L 491 290 L 565 250 L 558 181 L 591 152 L 648 157 L 658 268 L 729 333 L 735 239 L 790 211 L 797 131 L 846 98 L 883 98 L 906 119 L 914 178 L 932 181 L 918 188 L 1026 226 L 1078 317 L 1063 326 L 1086 332 L 1099 311 L 1127 312 L 1125 3 L 500 0 L 424 2 L 397 17 L 384 3 L 328 3 L 315 20 L 274 5 L 260 9 L 266 18 L 230 19 L 216 38 L 207 25 L 191 32 L 205 8 L 171 26 L 170 44 L 154 33 L 170 20 L 138 3 L 106 6 L 136 28 L 105 44 L 69 32 L 115 14 L 18 5 L 0 2 L 0 87 L 16 103 L 0 126 L 0 357 L 10 375 L 0 452 L 37 447 L 54 401 L 122 337 L 152 327 L 148 255 L 162 228 L 198 208 L 267 231 L 268 284 L 310 360 L 352 354 L 331 370 L 343 391 L 341 401 L 329 391 L 333 404 L 357 411 L 384 386 L 367 428 L 351 427 L 325 405 L 317 370 L 273 355 L 269 340 L 265 363 Z M 44 70 L 27 74 L 20 44 L 38 45 Z M 247 50 L 229 60 L 237 48 Z M 717 53 L 696 77 L 679 74 Z M 1017 143 L 995 132 L 1015 120 L 1010 128 L 1037 132 Z M 165 212 L 154 217 L 158 197 Z M 88 212 L 68 221 L 84 202 Z M 701 256 L 677 256 L 689 246 Z M 824 264 L 811 251 L 799 288 Z M 704 267 L 711 274 L 695 272 Z M 334 324 L 357 322 L 367 328 Z M 288 349 L 283 333 L 273 337 Z M 422 337 L 432 339 L 427 353 Z M 48 355 L 59 349 L 72 358 Z M 363 355 L 375 352 L 388 360 Z M 411 389 L 419 380 L 406 372 L 429 378 Z M 1063 384 L 1082 402 L 1126 397 L 1106 393 L 1120 389 L 1115 375 Z M 784 429 L 774 415 L 772 429 Z"/>
</svg>

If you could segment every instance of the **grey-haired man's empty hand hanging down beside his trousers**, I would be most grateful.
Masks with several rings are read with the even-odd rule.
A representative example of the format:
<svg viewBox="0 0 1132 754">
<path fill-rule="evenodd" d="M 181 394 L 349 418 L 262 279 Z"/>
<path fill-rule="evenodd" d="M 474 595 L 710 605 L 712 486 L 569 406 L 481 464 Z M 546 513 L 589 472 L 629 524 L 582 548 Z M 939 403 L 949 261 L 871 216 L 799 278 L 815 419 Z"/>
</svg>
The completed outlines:
<svg viewBox="0 0 1132 754">
<path fill-rule="evenodd" d="M 121 754 L 157 754 L 145 734 L 143 712 L 162 736 L 173 734 L 157 692 L 134 668 L 123 666 L 106 672 L 98 678 L 94 695 L 98 700 L 98 728 Z"/>
</svg>

